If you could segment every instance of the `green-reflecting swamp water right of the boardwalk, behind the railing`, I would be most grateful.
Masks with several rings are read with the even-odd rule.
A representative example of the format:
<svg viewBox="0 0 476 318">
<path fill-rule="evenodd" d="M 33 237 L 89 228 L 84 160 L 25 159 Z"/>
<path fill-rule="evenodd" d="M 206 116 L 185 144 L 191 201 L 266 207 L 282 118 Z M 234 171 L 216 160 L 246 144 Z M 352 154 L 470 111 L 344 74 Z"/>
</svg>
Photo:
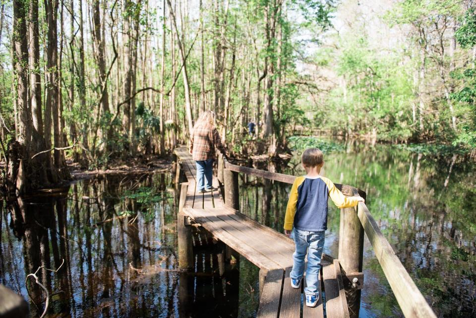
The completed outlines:
<svg viewBox="0 0 476 318">
<path fill-rule="evenodd" d="M 437 316 L 476 317 L 475 163 L 357 143 L 324 160 L 322 175 L 367 192 L 370 212 Z M 298 162 L 285 171 L 304 174 Z M 242 212 L 282 231 L 290 185 L 244 176 L 240 182 Z M 338 256 L 338 240 L 333 207 L 324 252 Z M 366 238 L 363 268 L 359 317 L 403 317 Z"/>
</svg>

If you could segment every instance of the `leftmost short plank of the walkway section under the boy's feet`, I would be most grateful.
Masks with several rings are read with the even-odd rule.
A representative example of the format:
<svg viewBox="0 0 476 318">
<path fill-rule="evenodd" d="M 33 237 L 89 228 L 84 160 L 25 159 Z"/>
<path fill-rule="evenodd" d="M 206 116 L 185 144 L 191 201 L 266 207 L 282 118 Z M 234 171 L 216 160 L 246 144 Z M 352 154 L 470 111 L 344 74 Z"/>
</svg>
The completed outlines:
<svg viewBox="0 0 476 318">
<path fill-rule="evenodd" d="M 284 270 L 282 269 L 268 271 L 259 299 L 256 318 L 278 318 L 281 292 L 283 290 L 283 276 Z"/>
</svg>

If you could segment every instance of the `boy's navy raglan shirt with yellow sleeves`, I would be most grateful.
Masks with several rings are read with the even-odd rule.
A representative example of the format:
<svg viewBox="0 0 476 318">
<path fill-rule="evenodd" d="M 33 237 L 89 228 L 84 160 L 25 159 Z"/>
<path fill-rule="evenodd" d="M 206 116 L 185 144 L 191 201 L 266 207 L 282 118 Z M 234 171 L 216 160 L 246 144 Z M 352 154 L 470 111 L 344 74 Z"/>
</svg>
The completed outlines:
<svg viewBox="0 0 476 318">
<path fill-rule="evenodd" d="M 318 176 L 309 178 L 297 177 L 291 188 L 284 229 L 292 230 L 293 225 L 301 231 L 327 230 L 327 198 L 338 208 L 356 206 L 357 197 L 346 197 L 334 183 L 327 178 Z"/>
</svg>

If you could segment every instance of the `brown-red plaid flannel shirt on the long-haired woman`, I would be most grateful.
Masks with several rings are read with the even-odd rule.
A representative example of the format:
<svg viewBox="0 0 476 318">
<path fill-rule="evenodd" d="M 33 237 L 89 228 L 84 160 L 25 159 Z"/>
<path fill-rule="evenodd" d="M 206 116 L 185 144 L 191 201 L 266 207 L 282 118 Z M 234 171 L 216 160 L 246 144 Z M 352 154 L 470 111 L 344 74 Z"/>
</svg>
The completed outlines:
<svg viewBox="0 0 476 318">
<path fill-rule="evenodd" d="M 193 129 L 189 140 L 193 160 L 215 158 L 215 148 L 226 154 L 218 130 L 209 125 L 199 125 Z"/>
</svg>

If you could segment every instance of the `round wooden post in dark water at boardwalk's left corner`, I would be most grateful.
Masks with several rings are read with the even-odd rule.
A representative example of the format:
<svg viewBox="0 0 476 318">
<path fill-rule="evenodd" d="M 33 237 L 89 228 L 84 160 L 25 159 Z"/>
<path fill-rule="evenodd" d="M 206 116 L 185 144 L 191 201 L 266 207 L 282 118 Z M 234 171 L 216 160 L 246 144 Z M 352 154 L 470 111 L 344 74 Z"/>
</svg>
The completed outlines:
<svg viewBox="0 0 476 318">
<path fill-rule="evenodd" d="M 179 268 L 189 270 L 193 268 L 192 229 L 185 225 L 183 207 L 187 199 L 188 182 L 181 184 L 179 213 L 177 214 L 177 234 L 179 237 Z"/>
</svg>

